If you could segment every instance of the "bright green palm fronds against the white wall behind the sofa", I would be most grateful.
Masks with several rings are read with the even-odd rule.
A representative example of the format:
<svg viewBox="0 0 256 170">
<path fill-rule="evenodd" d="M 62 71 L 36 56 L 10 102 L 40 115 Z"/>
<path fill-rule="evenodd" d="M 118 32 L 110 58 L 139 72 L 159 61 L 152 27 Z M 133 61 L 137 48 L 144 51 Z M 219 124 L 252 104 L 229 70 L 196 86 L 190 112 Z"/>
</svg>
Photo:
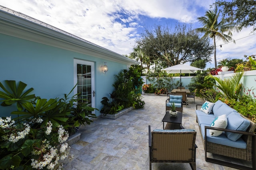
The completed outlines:
<svg viewBox="0 0 256 170">
<path fill-rule="evenodd" d="M 225 78 L 224 80 L 213 76 L 214 80 L 218 82 L 215 86 L 219 88 L 228 99 L 237 100 L 242 89 L 242 83 L 240 83 L 240 80 L 243 74 L 244 72 L 237 72 L 230 79 Z"/>
</svg>

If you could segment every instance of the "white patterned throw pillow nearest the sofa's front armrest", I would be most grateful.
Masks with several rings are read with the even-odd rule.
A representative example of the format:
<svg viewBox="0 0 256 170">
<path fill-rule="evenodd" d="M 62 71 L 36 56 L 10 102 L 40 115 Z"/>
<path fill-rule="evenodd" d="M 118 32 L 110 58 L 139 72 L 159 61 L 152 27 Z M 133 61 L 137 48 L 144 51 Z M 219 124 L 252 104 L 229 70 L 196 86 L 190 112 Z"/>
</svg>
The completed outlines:
<svg viewBox="0 0 256 170">
<path fill-rule="evenodd" d="M 228 119 L 226 115 L 221 115 L 219 117 L 216 117 L 214 121 L 212 121 L 211 127 L 219 127 L 219 128 L 226 128 L 228 125 Z M 209 130 L 211 136 L 220 136 L 223 131 L 217 131 L 217 130 Z"/>
</svg>

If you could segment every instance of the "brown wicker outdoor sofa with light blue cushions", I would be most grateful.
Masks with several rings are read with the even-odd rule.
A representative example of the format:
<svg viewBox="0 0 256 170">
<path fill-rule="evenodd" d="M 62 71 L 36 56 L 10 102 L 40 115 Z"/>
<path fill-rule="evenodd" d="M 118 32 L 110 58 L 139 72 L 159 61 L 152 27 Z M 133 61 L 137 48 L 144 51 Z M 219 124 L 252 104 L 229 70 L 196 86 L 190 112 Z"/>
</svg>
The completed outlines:
<svg viewBox="0 0 256 170">
<path fill-rule="evenodd" d="M 200 110 L 198 106 L 202 106 Z M 216 126 L 218 124 L 217 120 L 219 119 L 219 122 L 222 120 L 220 117 L 226 117 L 226 127 Z M 220 100 L 216 103 L 208 102 L 207 104 L 205 102 L 203 105 L 196 105 L 196 121 L 198 122 L 204 143 L 205 159 L 207 162 L 246 170 L 254 170 L 256 168 L 256 142 L 254 134 L 256 124 L 253 121 L 250 121 Z M 222 132 L 214 130 L 221 130 Z M 220 135 L 211 136 L 218 132 L 220 132 Z M 231 161 L 224 162 L 223 160 L 208 158 L 207 152 L 252 161 L 252 168 L 237 165 L 231 163 Z"/>
</svg>

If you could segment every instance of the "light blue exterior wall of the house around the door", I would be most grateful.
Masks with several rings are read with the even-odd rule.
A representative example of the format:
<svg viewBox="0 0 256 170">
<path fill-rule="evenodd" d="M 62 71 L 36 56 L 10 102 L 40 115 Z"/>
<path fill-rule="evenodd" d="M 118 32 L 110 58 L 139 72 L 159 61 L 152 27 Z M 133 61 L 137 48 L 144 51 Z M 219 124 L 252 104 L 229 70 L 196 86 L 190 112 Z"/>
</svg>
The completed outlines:
<svg viewBox="0 0 256 170">
<path fill-rule="evenodd" d="M 74 87 L 74 58 L 92 61 L 95 64 L 95 107 L 101 109 L 102 97 L 112 92 L 114 74 L 130 67 L 49 45 L 0 34 L 0 82 L 16 80 L 34 88 L 33 94 L 41 98 L 63 98 Z M 102 74 L 101 66 L 108 65 L 107 74 Z M 0 89 L 2 91 L 2 89 Z M 73 94 L 73 93 L 72 93 Z M 0 99 L 1 100 L 1 99 Z M 10 116 L 15 106 L 0 106 L 0 117 Z M 100 115 L 99 111 L 95 112 Z M 12 115 L 14 116 L 14 115 Z"/>
</svg>

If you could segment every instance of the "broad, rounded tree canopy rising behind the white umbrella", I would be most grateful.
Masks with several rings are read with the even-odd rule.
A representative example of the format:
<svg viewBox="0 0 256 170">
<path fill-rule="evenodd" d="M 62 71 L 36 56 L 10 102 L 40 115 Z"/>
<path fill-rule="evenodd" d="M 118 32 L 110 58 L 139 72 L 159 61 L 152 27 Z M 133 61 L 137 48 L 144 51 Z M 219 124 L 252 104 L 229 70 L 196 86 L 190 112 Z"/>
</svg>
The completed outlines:
<svg viewBox="0 0 256 170">
<path fill-rule="evenodd" d="M 200 40 L 199 35 L 186 24 L 176 25 L 174 32 L 167 26 L 146 29 L 136 43 L 148 56 L 154 57 L 155 64 L 173 66 L 193 62 L 198 59 L 210 61 L 213 47 L 208 40 Z"/>
</svg>

